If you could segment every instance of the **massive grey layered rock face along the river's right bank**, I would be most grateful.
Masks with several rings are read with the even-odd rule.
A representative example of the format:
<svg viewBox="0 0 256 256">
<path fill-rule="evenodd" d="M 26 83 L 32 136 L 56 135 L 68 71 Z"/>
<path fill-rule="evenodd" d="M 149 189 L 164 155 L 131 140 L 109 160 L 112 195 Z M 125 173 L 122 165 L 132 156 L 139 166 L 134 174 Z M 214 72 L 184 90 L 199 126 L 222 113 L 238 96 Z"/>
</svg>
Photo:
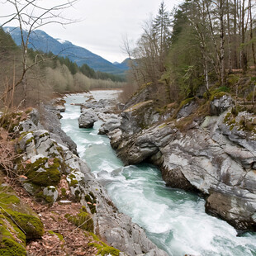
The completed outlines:
<svg viewBox="0 0 256 256">
<path fill-rule="evenodd" d="M 149 104 L 126 108 L 120 128 L 110 132 L 121 159 L 158 165 L 168 186 L 205 194 L 207 212 L 238 230 L 256 230 L 256 116 L 233 115 L 232 100 L 223 95 L 211 102 L 211 114 L 219 116 L 192 121 L 182 131 L 177 121 L 149 116 Z M 195 102 L 186 104 L 179 121 L 187 116 L 185 108 L 194 107 Z"/>
</svg>

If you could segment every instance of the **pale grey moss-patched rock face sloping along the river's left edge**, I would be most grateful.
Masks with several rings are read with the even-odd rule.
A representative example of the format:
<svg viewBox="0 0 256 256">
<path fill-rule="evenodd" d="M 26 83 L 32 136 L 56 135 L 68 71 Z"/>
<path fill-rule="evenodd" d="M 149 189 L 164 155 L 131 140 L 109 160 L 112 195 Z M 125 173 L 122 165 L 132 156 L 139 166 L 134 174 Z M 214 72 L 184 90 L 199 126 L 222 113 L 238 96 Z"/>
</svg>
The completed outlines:
<svg viewBox="0 0 256 256">
<path fill-rule="evenodd" d="M 52 115 L 47 115 L 48 111 Z M 39 113 L 34 110 L 30 119 L 17 127 L 21 131 L 17 150 L 23 155 L 18 167 L 25 176 L 21 183 L 26 191 L 41 201 L 81 202 L 92 217 L 92 230 L 111 246 L 125 252 L 120 255 L 167 256 L 146 237 L 145 230 L 132 223 L 129 216 L 117 211 L 88 165 L 71 151 L 75 147 L 70 138 L 60 132 L 55 111 L 45 107 L 44 113 L 43 124 L 40 124 Z M 51 132 L 45 130 L 52 127 L 53 122 L 59 128 Z M 65 192 L 61 184 L 65 184 Z"/>
</svg>

